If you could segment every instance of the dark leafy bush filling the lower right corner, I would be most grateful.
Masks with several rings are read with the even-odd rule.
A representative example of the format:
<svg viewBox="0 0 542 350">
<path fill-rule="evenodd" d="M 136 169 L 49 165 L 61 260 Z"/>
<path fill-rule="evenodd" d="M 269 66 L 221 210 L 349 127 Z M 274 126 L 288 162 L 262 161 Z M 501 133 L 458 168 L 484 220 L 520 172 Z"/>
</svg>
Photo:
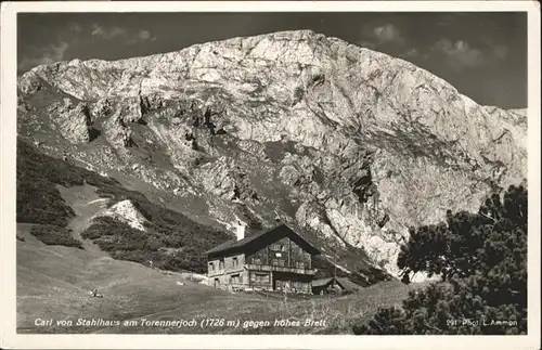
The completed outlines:
<svg viewBox="0 0 542 350">
<path fill-rule="evenodd" d="M 491 195 L 477 213 L 411 230 L 398 265 L 442 281 L 409 295 L 400 309 L 379 309 L 354 334 L 526 334 L 527 190 Z M 409 278 L 404 278 L 409 282 Z"/>
</svg>

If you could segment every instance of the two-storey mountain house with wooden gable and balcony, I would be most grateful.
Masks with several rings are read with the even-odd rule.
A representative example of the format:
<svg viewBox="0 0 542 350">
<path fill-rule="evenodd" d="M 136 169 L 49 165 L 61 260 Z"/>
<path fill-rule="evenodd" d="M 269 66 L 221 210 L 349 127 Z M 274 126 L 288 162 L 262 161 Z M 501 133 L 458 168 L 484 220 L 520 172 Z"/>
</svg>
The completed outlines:
<svg viewBox="0 0 542 350">
<path fill-rule="evenodd" d="M 307 293 L 320 251 L 285 224 L 209 251 L 208 277 L 215 287 Z"/>
</svg>

